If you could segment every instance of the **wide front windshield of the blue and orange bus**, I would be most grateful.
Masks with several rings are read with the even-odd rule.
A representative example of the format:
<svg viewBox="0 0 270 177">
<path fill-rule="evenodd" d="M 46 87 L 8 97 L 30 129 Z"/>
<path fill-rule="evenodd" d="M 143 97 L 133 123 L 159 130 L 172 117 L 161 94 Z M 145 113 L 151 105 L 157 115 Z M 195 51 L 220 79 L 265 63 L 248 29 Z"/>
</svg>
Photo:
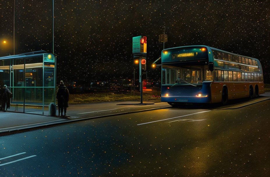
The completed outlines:
<svg viewBox="0 0 270 177">
<path fill-rule="evenodd" d="M 212 72 L 207 65 L 162 65 L 162 84 L 202 84 L 203 81 L 211 80 Z"/>
</svg>

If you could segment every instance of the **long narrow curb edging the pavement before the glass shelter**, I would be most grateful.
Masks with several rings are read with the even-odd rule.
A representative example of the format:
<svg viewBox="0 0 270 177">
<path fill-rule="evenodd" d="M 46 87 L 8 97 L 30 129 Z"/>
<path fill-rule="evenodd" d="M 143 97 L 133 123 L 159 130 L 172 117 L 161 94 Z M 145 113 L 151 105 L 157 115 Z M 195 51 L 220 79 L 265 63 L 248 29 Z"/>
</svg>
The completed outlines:
<svg viewBox="0 0 270 177">
<path fill-rule="evenodd" d="M 85 120 L 96 119 L 96 118 L 103 118 L 103 117 L 120 116 L 120 115 L 132 114 L 132 113 L 138 113 L 138 112 L 145 112 L 145 111 L 154 111 L 154 110 L 157 110 L 157 109 L 167 109 L 167 108 L 171 108 L 171 107 L 172 106 L 161 107 L 161 108 L 152 108 L 152 109 L 144 109 L 144 110 L 123 112 L 123 113 L 117 113 L 117 114 L 109 114 L 109 115 L 103 115 L 103 116 L 79 118 L 79 119 L 74 119 L 74 120 L 62 120 L 61 119 L 61 120 L 56 120 L 57 122 L 55 122 L 55 123 L 42 122 L 42 123 L 36 123 L 36 124 L 30 124 L 30 125 L 20 125 L 20 126 L 16 126 L 16 127 L 11 127 L 11 129 L 9 129 L 9 130 L 1 131 L 1 129 L 0 129 L 0 137 L 10 135 L 10 134 L 16 134 L 16 133 L 22 133 L 22 132 L 26 132 L 26 131 L 31 131 L 31 130 L 37 130 L 37 129 L 40 129 L 40 128 L 52 127 L 52 126 L 61 125 L 61 124 L 74 123 L 74 122 L 85 121 Z M 37 124 L 41 124 L 41 125 L 37 125 Z M 8 129 L 8 128 L 3 128 L 3 129 Z"/>
</svg>

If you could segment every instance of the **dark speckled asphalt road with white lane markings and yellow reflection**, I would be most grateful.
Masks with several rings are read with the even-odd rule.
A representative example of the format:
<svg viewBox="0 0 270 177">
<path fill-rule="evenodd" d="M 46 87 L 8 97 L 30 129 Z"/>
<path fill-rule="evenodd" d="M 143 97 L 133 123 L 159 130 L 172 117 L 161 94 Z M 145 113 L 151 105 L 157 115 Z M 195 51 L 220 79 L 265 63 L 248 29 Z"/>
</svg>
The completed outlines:
<svg viewBox="0 0 270 177">
<path fill-rule="evenodd" d="M 269 176 L 270 100 L 241 103 L 159 109 L 3 136 L 0 176 Z"/>
</svg>

